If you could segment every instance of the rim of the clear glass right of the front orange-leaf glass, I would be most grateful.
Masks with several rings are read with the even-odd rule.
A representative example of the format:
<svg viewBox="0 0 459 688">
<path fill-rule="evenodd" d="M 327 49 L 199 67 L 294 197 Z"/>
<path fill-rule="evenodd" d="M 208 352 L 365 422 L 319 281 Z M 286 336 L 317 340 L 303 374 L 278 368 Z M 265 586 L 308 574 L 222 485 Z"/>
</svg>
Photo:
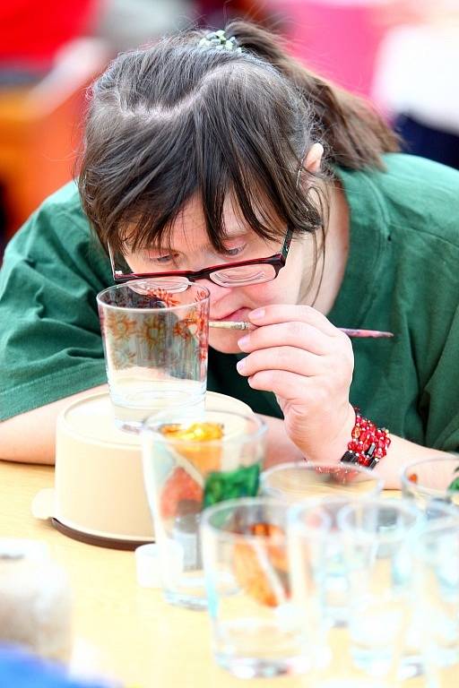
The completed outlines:
<svg viewBox="0 0 459 688">
<path fill-rule="evenodd" d="M 412 517 L 414 517 L 413 522 L 410 526 L 406 528 L 403 527 L 399 533 L 390 530 L 381 530 L 381 532 L 366 530 L 362 526 L 352 526 L 350 523 L 346 522 L 351 512 L 358 508 L 365 506 L 376 506 L 380 507 L 391 507 L 395 511 L 404 512 Z M 349 503 L 342 507 L 342 510 L 336 515 L 336 522 L 338 524 L 338 529 L 344 534 L 351 535 L 353 538 L 369 539 L 374 540 L 375 538 L 383 542 L 391 542 L 397 539 L 405 539 L 407 534 L 409 534 L 413 529 L 416 529 L 423 518 L 422 512 L 414 506 L 414 504 L 406 503 L 403 499 L 387 498 L 383 496 L 379 497 L 369 497 L 368 499 L 356 500 L 353 503 Z"/>
</svg>

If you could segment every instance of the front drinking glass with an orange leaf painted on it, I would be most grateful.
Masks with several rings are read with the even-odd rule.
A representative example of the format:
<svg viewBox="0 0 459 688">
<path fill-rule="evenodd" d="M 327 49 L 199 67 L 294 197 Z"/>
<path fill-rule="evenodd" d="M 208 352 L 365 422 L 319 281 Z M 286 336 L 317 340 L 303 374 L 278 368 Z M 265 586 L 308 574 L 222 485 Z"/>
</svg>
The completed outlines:
<svg viewBox="0 0 459 688">
<path fill-rule="evenodd" d="M 290 598 L 288 508 L 255 497 L 217 504 L 203 515 L 213 654 L 238 677 L 310 667 L 308 619 Z M 321 521 L 326 528 L 325 517 Z"/>
</svg>

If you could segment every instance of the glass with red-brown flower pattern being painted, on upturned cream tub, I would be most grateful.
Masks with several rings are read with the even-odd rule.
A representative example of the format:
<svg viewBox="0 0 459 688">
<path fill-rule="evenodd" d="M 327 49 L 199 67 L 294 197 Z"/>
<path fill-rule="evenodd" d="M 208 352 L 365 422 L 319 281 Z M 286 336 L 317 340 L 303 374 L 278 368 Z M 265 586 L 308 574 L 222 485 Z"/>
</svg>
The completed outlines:
<svg viewBox="0 0 459 688">
<path fill-rule="evenodd" d="M 138 431 L 156 409 L 204 403 L 208 289 L 133 280 L 101 291 L 97 301 L 117 426 Z"/>
</svg>

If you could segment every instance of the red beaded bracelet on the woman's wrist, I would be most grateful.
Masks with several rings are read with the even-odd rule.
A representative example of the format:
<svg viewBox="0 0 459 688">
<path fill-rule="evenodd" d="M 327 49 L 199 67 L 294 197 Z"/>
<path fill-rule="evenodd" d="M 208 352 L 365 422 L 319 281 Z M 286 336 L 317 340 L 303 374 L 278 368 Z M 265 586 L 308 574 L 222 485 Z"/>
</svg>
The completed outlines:
<svg viewBox="0 0 459 688">
<path fill-rule="evenodd" d="M 374 469 L 385 457 L 391 443 L 389 431 L 377 427 L 371 420 L 360 416 L 355 409 L 355 426 L 351 432 L 348 451 L 342 456 L 342 463 L 358 463 L 367 469 Z"/>
</svg>

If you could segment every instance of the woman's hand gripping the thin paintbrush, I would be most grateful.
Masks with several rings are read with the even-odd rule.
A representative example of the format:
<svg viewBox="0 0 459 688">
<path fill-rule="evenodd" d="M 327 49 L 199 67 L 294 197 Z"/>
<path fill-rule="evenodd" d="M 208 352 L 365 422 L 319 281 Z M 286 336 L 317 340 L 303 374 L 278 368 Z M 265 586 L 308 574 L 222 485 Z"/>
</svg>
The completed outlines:
<svg viewBox="0 0 459 688">
<path fill-rule="evenodd" d="M 238 341 L 238 363 L 255 390 L 273 391 L 285 430 L 308 459 L 341 459 L 355 413 L 349 401 L 351 340 L 307 305 L 269 305 L 249 314 L 256 329 Z"/>
</svg>

